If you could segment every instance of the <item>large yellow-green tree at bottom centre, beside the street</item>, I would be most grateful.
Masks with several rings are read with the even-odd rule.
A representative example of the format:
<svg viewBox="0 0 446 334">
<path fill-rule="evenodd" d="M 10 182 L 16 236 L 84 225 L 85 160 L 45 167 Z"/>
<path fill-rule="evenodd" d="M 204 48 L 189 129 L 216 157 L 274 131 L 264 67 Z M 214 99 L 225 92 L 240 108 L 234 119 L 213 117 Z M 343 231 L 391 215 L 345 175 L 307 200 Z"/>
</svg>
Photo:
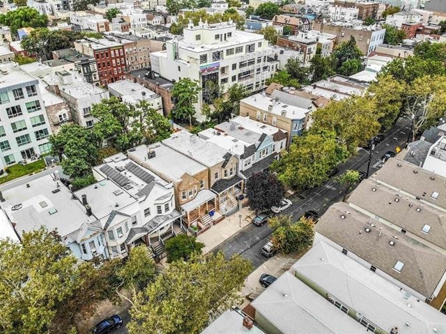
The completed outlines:
<svg viewBox="0 0 446 334">
<path fill-rule="evenodd" d="M 174 261 L 134 298 L 130 334 L 200 333 L 217 312 L 240 299 L 252 265 L 242 257 L 194 254 Z"/>
</svg>

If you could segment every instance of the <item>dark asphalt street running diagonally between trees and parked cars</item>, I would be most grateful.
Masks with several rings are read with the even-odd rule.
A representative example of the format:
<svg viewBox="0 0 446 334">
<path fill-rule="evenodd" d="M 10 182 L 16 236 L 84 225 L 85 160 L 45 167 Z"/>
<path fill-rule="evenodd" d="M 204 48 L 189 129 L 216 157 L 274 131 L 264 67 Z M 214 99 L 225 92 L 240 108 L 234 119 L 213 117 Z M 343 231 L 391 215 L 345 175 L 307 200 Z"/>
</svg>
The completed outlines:
<svg viewBox="0 0 446 334">
<path fill-rule="evenodd" d="M 381 157 L 387 151 L 395 151 L 397 146 L 401 149 L 405 146 L 408 137 L 410 121 L 399 119 L 397 124 L 385 132 L 385 139 L 378 144 L 371 155 L 369 175 L 374 174 L 383 165 Z M 346 162 L 339 165 L 339 173 L 344 173 L 347 169 L 357 169 L 362 172 L 367 171 L 367 162 L 369 160 L 369 151 L 360 149 L 357 155 L 349 158 Z M 314 210 L 319 216 L 335 202 L 341 201 L 344 195 L 344 189 L 333 179 L 325 182 L 317 188 L 305 190 L 291 198 L 293 205 L 283 211 L 283 214 L 293 215 L 293 219 L 298 220 L 305 211 Z M 215 251 L 222 251 L 226 257 L 240 255 L 245 259 L 252 261 L 254 268 L 258 268 L 268 260 L 261 255 L 261 248 L 270 238 L 271 230 L 268 224 L 263 227 L 249 225 L 235 234 L 228 240 L 219 245 Z"/>
</svg>

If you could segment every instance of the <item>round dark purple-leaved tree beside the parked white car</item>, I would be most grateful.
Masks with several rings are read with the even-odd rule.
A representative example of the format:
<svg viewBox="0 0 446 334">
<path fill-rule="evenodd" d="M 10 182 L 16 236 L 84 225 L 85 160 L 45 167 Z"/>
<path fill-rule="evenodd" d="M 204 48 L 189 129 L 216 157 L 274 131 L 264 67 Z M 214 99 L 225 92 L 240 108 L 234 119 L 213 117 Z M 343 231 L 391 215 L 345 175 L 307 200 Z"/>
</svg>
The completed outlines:
<svg viewBox="0 0 446 334">
<path fill-rule="evenodd" d="M 279 204 L 284 196 L 284 185 L 269 170 L 249 177 L 246 193 L 249 199 L 249 208 L 256 212 L 270 209 Z"/>
</svg>

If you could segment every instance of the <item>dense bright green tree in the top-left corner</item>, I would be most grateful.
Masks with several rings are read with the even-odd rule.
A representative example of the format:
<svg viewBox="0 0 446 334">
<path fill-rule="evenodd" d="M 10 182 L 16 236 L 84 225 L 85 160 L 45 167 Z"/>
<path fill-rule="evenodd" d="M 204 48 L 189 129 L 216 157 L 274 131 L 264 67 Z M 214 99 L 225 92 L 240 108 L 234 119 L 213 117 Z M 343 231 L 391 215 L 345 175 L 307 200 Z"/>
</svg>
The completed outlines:
<svg viewBox="0 0 446 334">
<path fill-rule="evenodd" d="M 31 28 L 40 28 L 47 26 L 47 15 L 40 15 L 38 10 L 30 7 L 19 7 L 16 10 L 10 10 L 6 14 L 0 14 L 0 24 L 9 26 L 11 33 L 17 33 L 17 29 L 30 26 Z"/>
</svg>

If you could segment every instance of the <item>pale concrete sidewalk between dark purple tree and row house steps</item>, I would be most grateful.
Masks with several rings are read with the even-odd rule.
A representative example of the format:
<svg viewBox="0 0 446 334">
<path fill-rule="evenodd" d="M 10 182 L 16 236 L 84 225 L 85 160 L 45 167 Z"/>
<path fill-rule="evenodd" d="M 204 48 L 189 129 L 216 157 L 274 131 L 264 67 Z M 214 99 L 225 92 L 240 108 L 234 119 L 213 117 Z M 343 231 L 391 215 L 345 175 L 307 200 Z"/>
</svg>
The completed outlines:
<svg viewBox="0 0 446 334">
<path fill-rule="evenodd" d="M 239 218 L 240 214 L 242 215 L 241 220 Z M 220 243 L 226 241 L 240 231 L 240 229 L 247 227 L 251 224 L 254 215 L 254 211 L 249 210 L 249 208 L 242 208 L 233 215 L 224 218 L 224 220 L 208 229 L 208 231 L 200 234 L 197 240 L 205 245 L 203 253 L 210 252 L 217 247 L 217 245 L 220 245 Z"/>
</svg>

